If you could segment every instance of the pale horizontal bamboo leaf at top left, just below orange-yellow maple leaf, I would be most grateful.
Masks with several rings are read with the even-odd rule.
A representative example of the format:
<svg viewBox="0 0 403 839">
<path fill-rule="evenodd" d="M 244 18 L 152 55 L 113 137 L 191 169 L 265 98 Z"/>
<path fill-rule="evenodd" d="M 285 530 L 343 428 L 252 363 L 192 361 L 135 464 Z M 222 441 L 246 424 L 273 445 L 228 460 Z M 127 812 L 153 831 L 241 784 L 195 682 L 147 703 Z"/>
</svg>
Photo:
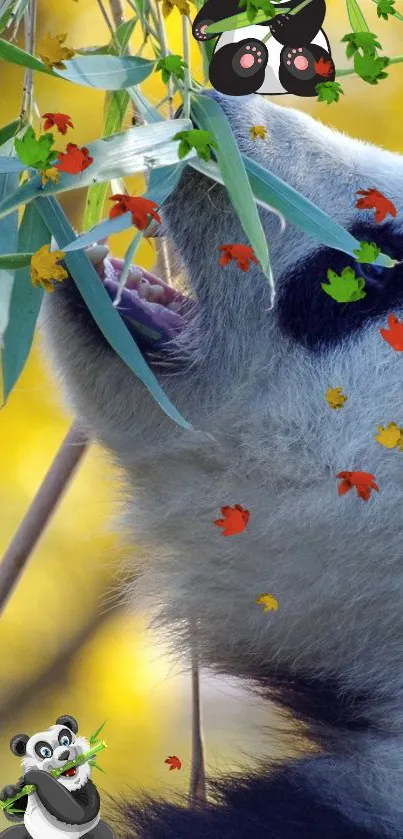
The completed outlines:
<svg viewBox="0 0 403 839">
<path fill-rule="evenodd" d="M 155 61 L 130 55 L 83 55 L 65 61 L 64 70 L 51 70 L 38 58 L 3 39 L 0 39 L 0 59 L 100 90 L 121 90 L 141 84 L 155 66 Z"/>
</svg>

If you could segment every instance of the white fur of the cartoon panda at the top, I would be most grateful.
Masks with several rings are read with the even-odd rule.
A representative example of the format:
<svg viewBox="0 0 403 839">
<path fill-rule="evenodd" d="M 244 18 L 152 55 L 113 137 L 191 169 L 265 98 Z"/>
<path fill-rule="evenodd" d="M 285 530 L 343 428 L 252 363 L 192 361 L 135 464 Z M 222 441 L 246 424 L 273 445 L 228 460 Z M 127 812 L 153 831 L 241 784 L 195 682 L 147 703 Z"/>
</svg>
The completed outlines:
<svg viewBox="0 0 403 839">
<path fill-rule="evenodd" d="M 265 35 L 267 35 L 267 30 L 262 26 L 255 24 L 251 24 L 250 26 L 242 29 L 232 29 L 229 32 L 223 32 L 215 45 L 214 53 L 218 52 L 222 49 L 222 47 L 227 46 L 227 44 L 237 44 L 245 38 L 255 38 L 257 41 L 261 41 Z M 323 47 L 325 50 L 330 52 L 329 41 L 323 29 L 319 30 L 318 34 L 311 41 L 311 44 L 317 44 L 319 47 Z M 256 92 L 266 95 L 280 95 L 288 93 L 279 80 L 280 55 L 284 46 L 283 44 L 280 44 L 273 35 L 271 35 L 270 39 L 266 43 L 266 47 L 269 53 L 269 58 L 264 82 Z"/>
</svg>

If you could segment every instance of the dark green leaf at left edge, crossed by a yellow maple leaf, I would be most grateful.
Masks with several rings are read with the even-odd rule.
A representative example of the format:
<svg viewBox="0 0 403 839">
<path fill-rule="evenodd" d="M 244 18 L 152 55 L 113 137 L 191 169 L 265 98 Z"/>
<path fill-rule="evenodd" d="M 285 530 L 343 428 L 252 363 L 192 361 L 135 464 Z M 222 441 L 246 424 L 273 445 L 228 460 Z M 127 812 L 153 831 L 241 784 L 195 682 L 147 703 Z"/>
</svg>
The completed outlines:
<svg viewBox="0 0 403 839">
<path fill-rule="evenodd" d="M 1 223 L 1 227 L 5 224 Z M 16 250 L 35 253 L 50 242 L 49 231 L 35 204 L 25 208 Z M 8 243 L 8 247 L 10 243 Z M 43 289 L 31 282 L 30 269 L 21 269 L 15 277 L 10 302 L 10 319 L 4 335 L 2 352 L 3 399 L 7 401 L 28 358 L 43 298 Z"/>
</svg>

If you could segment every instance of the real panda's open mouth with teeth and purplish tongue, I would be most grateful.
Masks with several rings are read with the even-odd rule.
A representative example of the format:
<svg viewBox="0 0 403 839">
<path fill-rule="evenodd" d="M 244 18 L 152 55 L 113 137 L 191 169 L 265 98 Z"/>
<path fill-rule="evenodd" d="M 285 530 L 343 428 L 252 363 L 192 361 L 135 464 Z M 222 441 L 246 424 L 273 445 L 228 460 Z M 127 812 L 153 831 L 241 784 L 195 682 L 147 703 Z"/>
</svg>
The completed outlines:
<svg viewBox="0 0 403 839">
<path fill-rule="evenodd" d="M 87 250 L 112 301 L 118 295 L 124 261 L 109 256 L 103 245 Z M 116 304 L 115 304 L 116 305 Z M 184 328 L 195 302 L 154 274 L 132 265 L 116 310 L 140 348 L 161 349 Z"/>
</svg>

